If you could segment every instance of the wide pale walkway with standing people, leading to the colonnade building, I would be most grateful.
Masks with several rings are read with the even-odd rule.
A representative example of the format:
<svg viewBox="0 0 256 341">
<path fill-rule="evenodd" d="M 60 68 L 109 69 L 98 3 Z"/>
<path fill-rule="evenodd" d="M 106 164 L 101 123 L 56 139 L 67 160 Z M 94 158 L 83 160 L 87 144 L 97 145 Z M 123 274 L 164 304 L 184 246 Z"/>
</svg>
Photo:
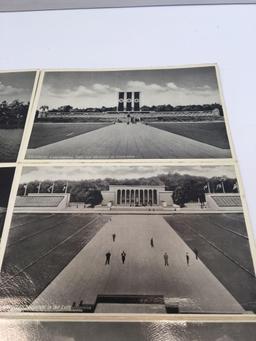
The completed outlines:
<svg viewBox="0 0 256 341">
<path fill-rule="evenodd" d="M 150 246 L 151 237 L 154 247 Z M 123 250 L 127 254 L 125 264 L 121 262 Z M 108 251 L 110 265 L 105 265 Z M 169 266 L 164 265 L 164 252 L 169 255 Z M 186 252 L 190 255 L 189 265 Z M 93 304 L 98 294 L 164 295 L 170 301 L 177 300 L 181 312 L 243 313 L 234 297 L 195 259 L 192 250 L 161 216 L 112 216 L 30 309 L 70 308 L 80 300 Z"/>
</svg>

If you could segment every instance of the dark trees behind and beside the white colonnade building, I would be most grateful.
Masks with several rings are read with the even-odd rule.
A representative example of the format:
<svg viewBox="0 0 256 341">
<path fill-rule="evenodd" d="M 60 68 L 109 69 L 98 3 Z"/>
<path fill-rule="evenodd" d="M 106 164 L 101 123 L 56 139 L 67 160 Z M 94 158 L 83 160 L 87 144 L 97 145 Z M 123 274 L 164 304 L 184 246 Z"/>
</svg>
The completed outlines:
<svg viewBox="0 0 256 341">
<path fill-rule="evenodd" d="M 80 181 L 37 180 L 22 183 L 18 188 L 18 195 L 29 193 L 64 193 L 68 192 L 72 202 L 83 202 L 92 206 L 102 201 L 101 191 L 108 190 L 109 185 L 163 185 L 168 191 L 173 191 L 174 203 L 183 206 L 187 202 L 204 200 L 205 193 L 234 193 L 238 192 L 236 179 L 228 177 L 202 177 L 182 175 L 179 173 L 159 174 L 152 177 L 137 179 L 95 179 Z"/>
</svg>

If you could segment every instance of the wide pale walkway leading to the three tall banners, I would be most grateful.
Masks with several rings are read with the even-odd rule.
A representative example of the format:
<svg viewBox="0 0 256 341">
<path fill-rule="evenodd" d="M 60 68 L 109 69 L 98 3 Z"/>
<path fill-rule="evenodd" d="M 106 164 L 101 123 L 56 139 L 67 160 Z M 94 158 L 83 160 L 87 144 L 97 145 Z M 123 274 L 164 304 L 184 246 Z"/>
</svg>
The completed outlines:
<svg viewBox="0 0 256 341">
<path fill-rule="evenodd" d="M 116 123 L 36 149 L 29 159 L 227 158 L 230 151 L 142 123 Z"/>
</svg>

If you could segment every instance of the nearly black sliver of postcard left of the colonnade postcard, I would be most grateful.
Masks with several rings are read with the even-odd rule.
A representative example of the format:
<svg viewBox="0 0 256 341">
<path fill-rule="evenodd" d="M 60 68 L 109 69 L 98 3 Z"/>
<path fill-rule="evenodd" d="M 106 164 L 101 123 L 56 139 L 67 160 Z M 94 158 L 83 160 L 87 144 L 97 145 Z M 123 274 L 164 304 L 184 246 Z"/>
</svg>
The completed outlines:
<svg viewBox="0 0 256 341">
<path fill-rule="evenodd" d="M 15 169 L 12 167 L 0 168 L 0 240 L 12 187 L 14 170 Z"/>
</svg>

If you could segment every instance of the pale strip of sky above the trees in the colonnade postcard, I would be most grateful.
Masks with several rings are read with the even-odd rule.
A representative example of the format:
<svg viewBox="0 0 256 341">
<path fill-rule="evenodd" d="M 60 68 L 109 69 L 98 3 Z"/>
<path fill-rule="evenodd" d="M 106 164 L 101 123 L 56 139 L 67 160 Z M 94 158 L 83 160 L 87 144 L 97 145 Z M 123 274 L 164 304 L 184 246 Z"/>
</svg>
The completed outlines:
<svg viewBox="0 0 256 341">
<path fill-rule="evenodd" d="M 150 177 L 158 174 L 178 172 L 197 176 L 227 176 L 235 178 L 232 166 L 56 166 L 56 167 L 24 167 L 22 183 L 33 180 L 86 180 L 86 179 L 133 179 Z"/>
</svg>

